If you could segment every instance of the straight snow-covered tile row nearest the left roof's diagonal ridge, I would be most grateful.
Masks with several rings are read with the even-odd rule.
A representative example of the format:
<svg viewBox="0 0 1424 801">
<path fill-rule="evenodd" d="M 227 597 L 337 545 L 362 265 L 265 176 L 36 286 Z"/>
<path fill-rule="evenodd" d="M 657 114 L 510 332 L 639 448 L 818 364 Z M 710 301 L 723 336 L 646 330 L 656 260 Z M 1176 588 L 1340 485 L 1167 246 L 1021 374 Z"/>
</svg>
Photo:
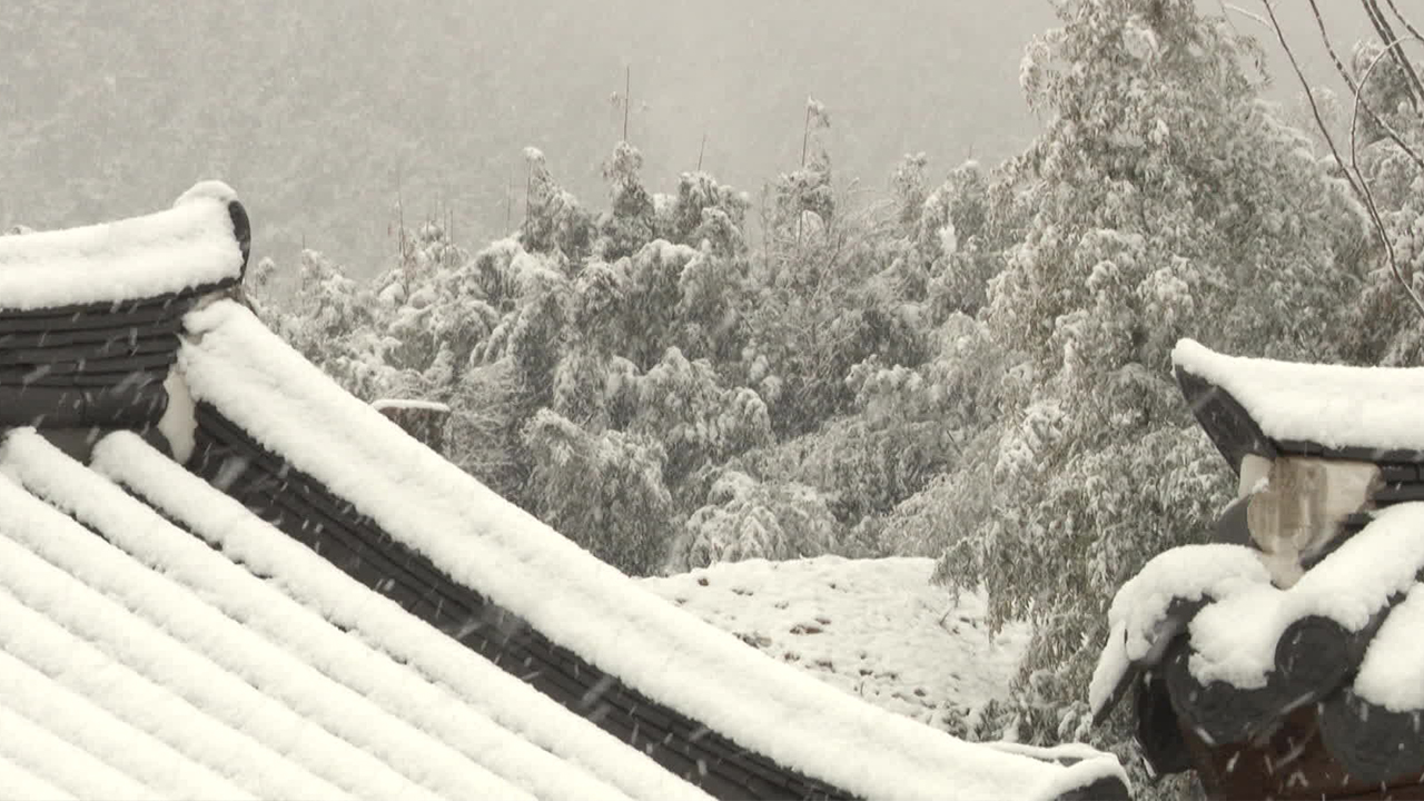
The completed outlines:
<svg viewBox="0 0 1424 801">
<path fill-rule="evenodd" d="M 94 448 L 93 467 L 124 483 L 172 515 L 222 553 L 268 576 L 299 603 L 320 609 L 333 624 L 370 647 L 441 683 L 537 747 L 578 765 L 648 801 L 706 801 L 696 787 L 665 771 L 646 754 L 614 738 L 587 718 L 451 640 L 396 601 L 369 590 L 306 546 L 252 515 L 238 500 L 218 493 L 131 432 L 115 432 Z M 531 777 L 553 785 L 543 797 L 570 797 L 558 777 Z"/>
</svg>

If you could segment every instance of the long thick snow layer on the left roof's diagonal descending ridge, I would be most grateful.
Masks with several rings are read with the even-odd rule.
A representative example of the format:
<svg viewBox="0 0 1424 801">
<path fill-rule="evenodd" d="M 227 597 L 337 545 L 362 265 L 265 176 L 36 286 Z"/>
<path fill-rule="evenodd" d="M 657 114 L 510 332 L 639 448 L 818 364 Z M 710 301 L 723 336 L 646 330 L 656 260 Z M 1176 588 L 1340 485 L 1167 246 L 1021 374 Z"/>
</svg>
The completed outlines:
<svg viewBox="0 0 1424 801">
<path fill-rule="evenodd" d="M 873 798 L 1049 798 L 1104 770 L 1125 781 L 1109 755 L 1062 768 L 974 745 L 779 664 L 460 472 L 241 305 L 191 312 L 187 326 L 179 369 L 197 400 L 461 584 L 739 745 Z"/>
</svg>

